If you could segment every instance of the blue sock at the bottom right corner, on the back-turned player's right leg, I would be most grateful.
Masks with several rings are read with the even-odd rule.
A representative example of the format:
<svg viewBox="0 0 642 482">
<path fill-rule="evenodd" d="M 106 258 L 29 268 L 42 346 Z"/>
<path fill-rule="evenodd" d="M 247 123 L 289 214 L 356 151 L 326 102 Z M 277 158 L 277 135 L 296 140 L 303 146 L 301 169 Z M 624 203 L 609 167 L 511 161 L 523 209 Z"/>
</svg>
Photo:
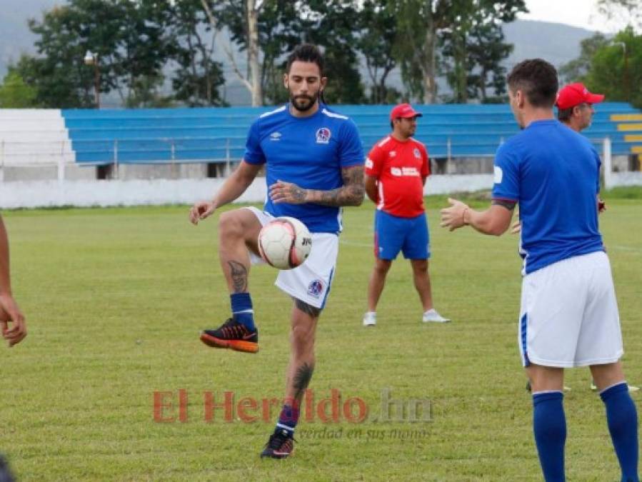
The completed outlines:
<svg viewBox="0 0 642 482">
<path fill-rule="evenodd" d="M 622 482 L 638 482 L 638 411 L 626 381 L 600 393 L 606 406 L 606 423 L 622 468 Z"/>
</svg>

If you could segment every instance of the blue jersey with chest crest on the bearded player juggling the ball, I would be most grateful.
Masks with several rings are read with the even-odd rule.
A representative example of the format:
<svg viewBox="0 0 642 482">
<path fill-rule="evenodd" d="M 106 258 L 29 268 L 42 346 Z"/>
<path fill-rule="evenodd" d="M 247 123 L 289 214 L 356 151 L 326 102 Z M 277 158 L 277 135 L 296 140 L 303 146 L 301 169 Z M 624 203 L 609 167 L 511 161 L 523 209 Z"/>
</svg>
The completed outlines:
<svg viewBox="0 0 642 482">
<path fill-rule="evenodd" d="M 266 182 L 291 182 L 304 189 L 329 191 L 343 186 L 341 169 L 363 164 L 363 146 L 356 125 L 346 116 L 321 104 L 309 117 L 295 117 L 288 105 L 256 119 L 246 141 L 244 160 L 266 164 Z M 320 204 L 274 204 L 265 208 L 273 216 L 292 216 L 312 233 L 341 231 L 341 209 Z"/>
</svg>

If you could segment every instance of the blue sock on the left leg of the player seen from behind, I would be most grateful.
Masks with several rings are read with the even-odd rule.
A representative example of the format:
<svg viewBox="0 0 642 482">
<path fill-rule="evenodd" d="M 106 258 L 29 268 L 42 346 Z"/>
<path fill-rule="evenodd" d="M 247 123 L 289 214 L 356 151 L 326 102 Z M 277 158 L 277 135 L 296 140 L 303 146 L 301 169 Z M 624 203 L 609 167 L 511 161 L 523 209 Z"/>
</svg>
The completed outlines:
<svg viewBox="0 0 642 482">
<path fill-rule="evenodd" d="M 563 482 L 566 417 L 561 391 L 533 393 L 533 432 L 546 482 Z"/>
</svg>

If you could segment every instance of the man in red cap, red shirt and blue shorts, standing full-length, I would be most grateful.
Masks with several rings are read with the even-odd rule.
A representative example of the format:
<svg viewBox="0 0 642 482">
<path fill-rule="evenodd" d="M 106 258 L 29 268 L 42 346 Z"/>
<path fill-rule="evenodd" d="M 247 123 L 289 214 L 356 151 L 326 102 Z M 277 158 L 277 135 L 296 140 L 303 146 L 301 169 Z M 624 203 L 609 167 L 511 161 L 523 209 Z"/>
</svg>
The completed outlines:
<svg viewBox="0 0 642 482">
<path fill-rule="evenodd" d="M 363 326 L 376 325 L 376 306 L 386 274 L 399 251 L 410 260 L 423 322 L 444 323 L 435 308 L 428 276 L 430 239 L 423 209 L 423 185 L 430 174 L 426 146 L 412 138 L 421 114 L 410 104 L 390 113 L 392 133 L 378 141 L 366 159 L 366 194 L 377 206 L 374 219 L 375 264 L 368 283 L 368 311 Z"/>
</svg>

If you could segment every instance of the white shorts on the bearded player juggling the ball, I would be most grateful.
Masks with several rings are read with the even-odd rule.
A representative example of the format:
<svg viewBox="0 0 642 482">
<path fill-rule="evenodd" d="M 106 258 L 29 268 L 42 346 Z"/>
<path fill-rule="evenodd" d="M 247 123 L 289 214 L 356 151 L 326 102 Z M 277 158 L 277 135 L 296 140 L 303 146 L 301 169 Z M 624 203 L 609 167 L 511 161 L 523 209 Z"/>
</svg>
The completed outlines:
<svg viewBox="0 0 642 482">
<path fill-rule="evenodd" d="M 255 207 L 247 207 L 259 219 L 261 226 L 272 221 L 274 216 Z M 294 269 L 279 271 L 276 286 L 290 296 L 315 308 L 326 305 L 338 255 L 338 236 L 333 233 L 312 233 L 312 251 L 306 261 Z M 265 263 L 263 258 L 250 252 L 252 264 Z"/>
</svg>

